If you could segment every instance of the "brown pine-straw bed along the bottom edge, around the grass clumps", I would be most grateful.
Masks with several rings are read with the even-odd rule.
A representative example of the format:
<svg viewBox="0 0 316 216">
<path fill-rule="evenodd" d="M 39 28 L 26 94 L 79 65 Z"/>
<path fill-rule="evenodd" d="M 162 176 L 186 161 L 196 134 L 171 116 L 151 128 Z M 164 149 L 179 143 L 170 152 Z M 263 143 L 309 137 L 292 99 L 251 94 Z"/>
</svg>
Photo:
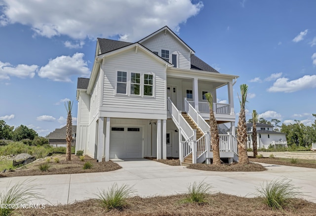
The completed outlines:
<svg viewBox="0 0 316 216">
<path fill-rule="evenodd" d="M 179 201 L 187 195 L 156 196 L 149 198 L 132 197 L 129 207 L 122 211 L 107 212 L 96 199 L 77 202 L 70 205 L 46 206 L 45 209 L 18 210 L 18 215 L 25 216 L 313 216 L 316 203 L 295 200 L 293 208 L 273 211 L 262 203 L 260 198 L 245 198 L 227 194 L 208 195 L 208 204 L 181 204 Z"/>
</svg>

